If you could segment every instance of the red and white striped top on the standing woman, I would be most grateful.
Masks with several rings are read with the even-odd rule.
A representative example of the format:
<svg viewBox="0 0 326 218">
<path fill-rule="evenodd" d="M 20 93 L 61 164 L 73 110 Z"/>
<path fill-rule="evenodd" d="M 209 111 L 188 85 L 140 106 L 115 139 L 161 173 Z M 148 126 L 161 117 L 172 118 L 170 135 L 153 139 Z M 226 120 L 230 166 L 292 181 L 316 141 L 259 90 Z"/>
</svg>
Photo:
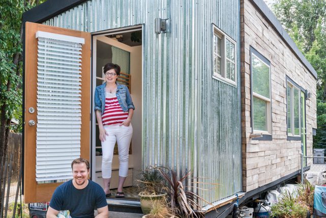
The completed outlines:
<svg viewBox="0 0 326 218">
<path fill-rule="evenodd" d="M 113 125 L 124 122 L 128 118 L 128 112 L 124 112 L 117 100 L 115 93 L 106 93 L 105 110 L 102 115 L 104 125 Z"/>
</svg>

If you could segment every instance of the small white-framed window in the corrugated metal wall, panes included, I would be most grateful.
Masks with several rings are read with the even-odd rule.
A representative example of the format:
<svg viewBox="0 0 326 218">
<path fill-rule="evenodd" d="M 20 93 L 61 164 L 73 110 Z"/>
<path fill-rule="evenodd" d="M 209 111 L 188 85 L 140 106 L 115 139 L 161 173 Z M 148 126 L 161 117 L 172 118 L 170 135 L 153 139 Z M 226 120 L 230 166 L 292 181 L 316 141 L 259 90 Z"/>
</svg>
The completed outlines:
<svg viewBox="0 0 326 218">
<path fill-rule="evenodd" d="M 213 77 L 236 85 L 236 43 L 213 25 Z"/>
</svg>

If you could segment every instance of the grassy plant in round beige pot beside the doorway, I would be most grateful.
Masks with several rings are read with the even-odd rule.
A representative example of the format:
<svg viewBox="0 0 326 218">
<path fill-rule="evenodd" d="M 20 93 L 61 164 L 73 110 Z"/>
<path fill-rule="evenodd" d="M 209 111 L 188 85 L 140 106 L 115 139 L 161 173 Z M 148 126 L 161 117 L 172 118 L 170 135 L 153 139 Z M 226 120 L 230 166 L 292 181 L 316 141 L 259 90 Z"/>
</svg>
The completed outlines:
<svg viewBox="0 0 326 218">
<path fill-rule="evenodd" d="M 141 171 L 138 181 L 140 207 L 144 214 L 150 213 L 153 203 L 164 204 L 167 193 L 164 179 L 157 168 Z"/>
</svg>

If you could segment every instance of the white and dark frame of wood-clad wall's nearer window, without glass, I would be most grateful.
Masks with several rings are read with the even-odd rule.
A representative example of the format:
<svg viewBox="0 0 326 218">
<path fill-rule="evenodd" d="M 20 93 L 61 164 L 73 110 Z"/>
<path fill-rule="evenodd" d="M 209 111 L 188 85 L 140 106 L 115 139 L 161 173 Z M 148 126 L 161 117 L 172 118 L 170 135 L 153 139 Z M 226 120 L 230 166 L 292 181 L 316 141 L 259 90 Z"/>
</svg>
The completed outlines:
<svg viewBox="0 0 326 218">
<path fill-rule="evenodd" d="M 270 84 L 270 98 L 266 98 L 258 93 L 255 93 L 253 91 L 253 74 L 252 74 L 252 57 L 253 55 L 255 58 L 257 58 L 259 61 L 261 61 L 263 64 L 265 64 L 269 68 L 269 84 Z M 250 46 L 250 92 L 251 92 L 251 133 L 261 133 L 262 137 L 259 138 L 252 138 L 252 140 L 266 140 L 271 141 L 272 140 L 272 81 L 271 81 L 271 62 L 266 59 L 264 56 L 262 56 L 256 49 L 254 49 L 252 46 Z M 260 100 L 263 100 L 267 102 L 267 111 L 266 111 L 266 121 L 267 121 L 267 131 L 263 130 L 255 130 L 254 129 L 254 104 L 253 104 L 253 98 L 258 98 Z"/>
</svg>

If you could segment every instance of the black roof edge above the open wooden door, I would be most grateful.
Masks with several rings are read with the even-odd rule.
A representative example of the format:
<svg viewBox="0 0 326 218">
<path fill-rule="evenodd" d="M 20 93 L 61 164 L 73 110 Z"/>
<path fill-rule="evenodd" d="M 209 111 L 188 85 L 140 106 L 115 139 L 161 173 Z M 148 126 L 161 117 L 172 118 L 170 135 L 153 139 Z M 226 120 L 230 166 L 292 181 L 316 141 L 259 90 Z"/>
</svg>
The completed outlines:
<svg viewBox="0 0 326 218">
<path fill-rule="evenodd" d="M 27 21 L 42 23 L 86 1 L 87 0 L 47 0 L 41 5 L 23 13 L 22 20 L 23 23 Z"/>
</svg>

